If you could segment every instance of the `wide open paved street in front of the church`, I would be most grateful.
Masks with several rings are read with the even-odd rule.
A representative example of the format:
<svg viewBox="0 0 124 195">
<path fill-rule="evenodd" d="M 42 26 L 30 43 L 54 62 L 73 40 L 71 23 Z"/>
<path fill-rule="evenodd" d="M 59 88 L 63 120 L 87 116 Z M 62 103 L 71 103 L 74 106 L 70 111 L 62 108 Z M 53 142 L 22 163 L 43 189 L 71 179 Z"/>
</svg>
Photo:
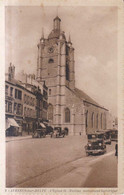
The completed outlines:
<svg viewBox="0 0 124 195">
<path fill-rule="evenodd" d="M 86 143 L 83 136 L 6 142 L 6 186 L 116 187 L 115 143 L 100 156 L 86 156 Z"/>
</svg>

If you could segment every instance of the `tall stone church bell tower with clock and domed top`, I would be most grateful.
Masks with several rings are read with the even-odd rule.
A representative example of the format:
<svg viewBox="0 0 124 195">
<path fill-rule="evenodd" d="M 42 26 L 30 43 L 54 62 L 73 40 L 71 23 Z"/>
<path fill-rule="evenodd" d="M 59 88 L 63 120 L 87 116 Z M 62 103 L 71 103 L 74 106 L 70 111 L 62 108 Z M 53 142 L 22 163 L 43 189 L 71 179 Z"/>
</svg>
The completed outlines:
<svg viewBox="0 0 124 195">
<path fill-rule="evenodd" d="M 61 19 L 53 20 L 53 30 L 47 39 L 38 44 L 37 80 L 45 81 L 48 87 L 48 119 L 53 126 L 63 124 L 63 109 L 66 106 L 66 88 L 75 88 L 74 48 L 71 38 L 66 40 L 61 30 Z"/>
</svg>

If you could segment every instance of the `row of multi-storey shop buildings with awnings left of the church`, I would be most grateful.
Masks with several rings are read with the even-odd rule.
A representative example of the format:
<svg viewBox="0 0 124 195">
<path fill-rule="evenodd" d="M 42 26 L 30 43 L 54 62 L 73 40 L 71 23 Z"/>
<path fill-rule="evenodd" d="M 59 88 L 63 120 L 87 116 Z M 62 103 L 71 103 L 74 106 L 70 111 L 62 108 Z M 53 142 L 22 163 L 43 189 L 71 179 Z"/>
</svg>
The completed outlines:
<svg viewBox="0 0 124 195">
<path fill-rule="evenodd" d="M 15 67 L 10 64 L 5 80 L 5 112 L 7 135 L 34 131 L 37 121 L 47 120 L 45 83 L 37 83 L 30 76 L 24 83 L 16 80 Z"/>
</svg>

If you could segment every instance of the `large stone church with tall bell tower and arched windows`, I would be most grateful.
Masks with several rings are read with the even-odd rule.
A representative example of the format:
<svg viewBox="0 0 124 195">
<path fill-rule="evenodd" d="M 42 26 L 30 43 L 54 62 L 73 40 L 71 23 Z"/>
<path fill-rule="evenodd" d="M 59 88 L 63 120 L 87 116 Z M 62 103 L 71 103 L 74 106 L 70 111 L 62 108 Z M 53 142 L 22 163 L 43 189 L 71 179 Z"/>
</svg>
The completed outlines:
<svg viewBox="0 0 124 195">
<path fill-rule="evenodd" d="M 38 44 L 37 80 L 48 87 L 49 124 L 68 129 L 69 135 L 107 129 L 108 110 L 75 87 L 74 67 L 74 48 L 57 16 L 48 38 L 42 34 Z"/>
</svg>

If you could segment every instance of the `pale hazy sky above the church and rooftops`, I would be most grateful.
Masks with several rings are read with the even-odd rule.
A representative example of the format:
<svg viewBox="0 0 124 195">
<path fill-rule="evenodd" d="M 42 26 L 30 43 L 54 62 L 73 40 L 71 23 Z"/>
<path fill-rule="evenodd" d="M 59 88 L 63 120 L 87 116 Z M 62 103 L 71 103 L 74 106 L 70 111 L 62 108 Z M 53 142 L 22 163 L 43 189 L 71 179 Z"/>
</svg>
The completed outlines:
<svg viewBox="0 0 124 195">
<path fill-rule="evenodd" d="M 47 38 L 58 14 L 75 48 L 76 87 L 117 115 L 117 7 L 9 6 L 5 13 L 6 72 L 12 62 L 17 78 L 36 73 L 42 28 Z"/>
</svg>

